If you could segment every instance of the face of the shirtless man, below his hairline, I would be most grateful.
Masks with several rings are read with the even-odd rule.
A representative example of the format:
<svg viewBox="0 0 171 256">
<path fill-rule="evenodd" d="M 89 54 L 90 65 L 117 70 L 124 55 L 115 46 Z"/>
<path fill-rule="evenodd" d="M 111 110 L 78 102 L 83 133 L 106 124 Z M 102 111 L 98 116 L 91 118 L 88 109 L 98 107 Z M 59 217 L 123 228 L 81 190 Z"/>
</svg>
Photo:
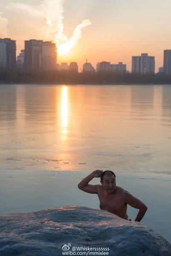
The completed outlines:
<svg viewBox="0 0 171 256">
<path fill-rule="evenodd" d="M 112 193 L 116 189 L 116 178 L 113 174 L 106 173 L 103 176 L 103 180 L 100 181 L 103 188 L 108 192 Z"/>
</svg>

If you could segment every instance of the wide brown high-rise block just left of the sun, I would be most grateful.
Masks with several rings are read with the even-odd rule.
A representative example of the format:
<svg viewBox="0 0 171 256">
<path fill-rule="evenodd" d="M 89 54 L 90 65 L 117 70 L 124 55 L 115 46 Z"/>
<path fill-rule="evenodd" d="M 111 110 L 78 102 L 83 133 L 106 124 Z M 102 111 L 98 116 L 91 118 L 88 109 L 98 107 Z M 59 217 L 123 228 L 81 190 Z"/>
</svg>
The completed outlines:
<svg viewBox="0 0 171 256">
<path fill-rule="evenodd" d="M 56 60 L 56 44 L 42 40 L 25 41 L 24 67 L 26 70 L 55 70 Z"/>
</svg>

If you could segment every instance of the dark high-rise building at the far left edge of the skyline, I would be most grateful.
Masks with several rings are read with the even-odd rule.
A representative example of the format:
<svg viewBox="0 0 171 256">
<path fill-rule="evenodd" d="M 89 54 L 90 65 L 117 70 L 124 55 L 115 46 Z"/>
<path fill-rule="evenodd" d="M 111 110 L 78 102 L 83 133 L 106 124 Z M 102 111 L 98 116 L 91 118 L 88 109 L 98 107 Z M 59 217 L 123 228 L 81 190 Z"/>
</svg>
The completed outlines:
<svg viewBox="0 0 171 256">
<path fill-rule="evenodd" d="M 16 67 L 16 41 L 11 38 L 0 38 L 0 68 Z"/>
</svg>

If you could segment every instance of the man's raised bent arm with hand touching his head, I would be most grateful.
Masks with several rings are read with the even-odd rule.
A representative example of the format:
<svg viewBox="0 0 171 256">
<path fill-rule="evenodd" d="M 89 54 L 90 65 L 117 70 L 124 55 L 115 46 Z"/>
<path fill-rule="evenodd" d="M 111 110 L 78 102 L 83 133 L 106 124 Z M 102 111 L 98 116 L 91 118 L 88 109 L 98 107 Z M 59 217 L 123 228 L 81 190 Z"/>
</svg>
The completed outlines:
<svg viewBox="0 0 171 256">
<path fill-rule="evenodd" d="M 84 192 L 87 192 L 90 194 L 97 194 L 97 186 L 99 186 L 99 185 L 90 185 L 88 183 L 93 178 L 100 177 L 102 172 L 103 171 L 101 171 L 101 170 L 96 170 L 96 171 L 90 173 L 90 175 L 88 175 L 83 180 L 81 180 L 81 182 L 78 184 L 78 188 L 83 190 Z"/>
</svg>

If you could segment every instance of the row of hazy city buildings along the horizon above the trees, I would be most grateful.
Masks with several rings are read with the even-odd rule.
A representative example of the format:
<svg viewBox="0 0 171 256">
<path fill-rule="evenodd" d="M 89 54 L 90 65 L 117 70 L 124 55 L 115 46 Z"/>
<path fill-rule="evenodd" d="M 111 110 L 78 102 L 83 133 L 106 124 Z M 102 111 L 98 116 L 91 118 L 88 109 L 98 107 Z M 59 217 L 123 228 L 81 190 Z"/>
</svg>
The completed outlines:
<svg viewBox="0 0 171 256">
<path fill-rule="evenodd" d="M 96 63 L 96 72 L 107 73 L 126 73 L 127 65 L 119 62 L 111 64 L 108 61 Z M 8 70 L 15 69 L 35 71 L 35 70 L 70 70 L 78 73 L 78 64 L 71 61 L 57 63 L 57 48 L 52 41 L 43 40 L 26 40 L 25 47 L 21 50 L 16 59 L 16 41 L 11 38 L 0 38 L 0 68 Z M 83 64 L 81 72 L 94 72 L 95 68 L 91 63 Z M 141 53 L 141 56 L 132 56 L 131 73 L 155 73 L 155 57 L 149 56 L 148 53 Z M 163 67 L 159 67 L 157 73 L 171 75 L 171 49 L 164 50 Z"/>
</svg>

